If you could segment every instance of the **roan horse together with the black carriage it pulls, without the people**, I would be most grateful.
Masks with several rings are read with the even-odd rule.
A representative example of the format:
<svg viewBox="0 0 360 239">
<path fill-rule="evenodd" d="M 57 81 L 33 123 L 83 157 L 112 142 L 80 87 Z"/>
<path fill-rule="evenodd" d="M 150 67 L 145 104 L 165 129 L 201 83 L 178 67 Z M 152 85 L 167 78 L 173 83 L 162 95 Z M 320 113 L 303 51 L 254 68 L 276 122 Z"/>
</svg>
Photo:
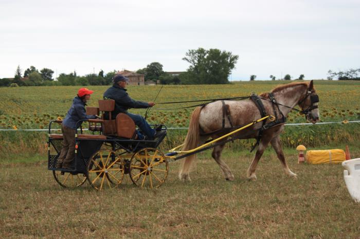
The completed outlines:
<svg viewBox="0 0 360 239">
<path fill-rule="evenodd" d="M 52 170 L 55 180 L 63 187 L 78 187 L 87 180 L 97 190 L 114 188 L 121 184 L 124 174 L 129 174 L 135 185 L 155 188 L 165 182 L 169 162 L 186 158 L 179 178 L 187 181 L 190 180 L 193 155 L 213 148 L 212 157 L 222 169 L 225 179 L 233 180 L 229 167 L 220 159 L 224 145 L 236 139 L 257 138 L 259 147 L 248 168 L 248 179 L 256 180 L 256 167 L 269 143 L 276 151 L 284 172 L 296 177 L 285 162 L 280 133 L 291 110 L 305 114 L 314 124 L 319 120 L 319 98 L 313 88 L 313 81 L 287 84 L 275 88 L 271 93 L 241 98 L 247 100 L 211 100 L 210 103 L 197 107 L 192 113 L 184 144 L 169 150 L 167 154 L 158 149 L 166 133 L 160 134 L 155 140 L 139 140 L 136 138 L 136 126 L 132 119 L 122 113 L 112 119 L 109 113 L 110 118 L 107 120 L 104 114 L 114 110 L 115 102 L 100 100 L 99 107 L 86 109 L 89 115 L 99 115 L 99 111 L 102 112 L 100 120 L 88 120 L 88 130 L 93 134 L 83 134 L 80 128 L 80 134 L 75 135 L 76 156 L 71 169 L 56 168 L 62 148 L 62 135 L 50 132 L 51 124 L 61 121 L 50 122 L 48 169 Z M 301 110 L 295 109 L 296 105 Z M 158 129 L 165 132 L 167 130 L 166 126 Z M 178 151 L 180 147 L 182 150 Z"/>
</svg>

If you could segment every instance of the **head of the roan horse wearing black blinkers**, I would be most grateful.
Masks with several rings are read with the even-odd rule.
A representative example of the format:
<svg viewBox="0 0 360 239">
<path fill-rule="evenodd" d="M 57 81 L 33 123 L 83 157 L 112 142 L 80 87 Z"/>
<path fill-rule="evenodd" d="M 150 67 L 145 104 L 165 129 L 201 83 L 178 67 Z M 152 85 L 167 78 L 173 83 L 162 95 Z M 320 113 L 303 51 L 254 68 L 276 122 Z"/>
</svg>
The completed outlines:
<svg viewBox="0 0 360 239">
<path fill-rule="evenodd" d="M 319 96 L 314 89 L 313 81 L 310 82 L 307 91 L 303 97 L 300 98 L 298 105 L 305 114 L 305 118 L 313 124 L 320 120 L 319 109 Z"/>
</svg>

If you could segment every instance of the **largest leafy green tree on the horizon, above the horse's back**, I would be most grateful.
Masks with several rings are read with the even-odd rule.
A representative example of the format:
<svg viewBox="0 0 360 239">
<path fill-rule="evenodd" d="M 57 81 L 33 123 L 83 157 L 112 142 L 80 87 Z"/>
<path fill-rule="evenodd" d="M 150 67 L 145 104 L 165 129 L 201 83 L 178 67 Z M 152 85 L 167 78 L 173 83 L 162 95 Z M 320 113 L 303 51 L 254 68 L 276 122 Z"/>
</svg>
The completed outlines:
<svg viewBox="0 0 360 239">
<path fill-rule="evenodd" d="M 184 79 L 187 84 L 227 84 L 238 55 L 219 49 L 189 50 L 184 61 L 190 63 Z"/>
</svg>

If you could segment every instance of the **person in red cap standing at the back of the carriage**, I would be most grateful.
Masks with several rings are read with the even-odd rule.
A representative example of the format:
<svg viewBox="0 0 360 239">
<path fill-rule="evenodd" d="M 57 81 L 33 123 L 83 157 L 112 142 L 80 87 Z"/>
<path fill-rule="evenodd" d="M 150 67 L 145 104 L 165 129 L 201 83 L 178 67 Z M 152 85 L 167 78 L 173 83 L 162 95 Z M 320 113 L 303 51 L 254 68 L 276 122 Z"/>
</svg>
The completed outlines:
<svg viewBox="0 0 360 239">
<path fill-rule="evenodd" d="M 80 120 L 88 120 L 89 118 L 97 118 L 97 115 L 86 115 L 85 103 L 90 99 L 90 95 L 94 91 L 87 88 L 81 88 L 78 95 L 73 99 L 69 111 L 61 125 L 63 133 L 63 147 L 60 152 L 56 167 L 57 168 L 71 168 L 75 157 L 75 134 L 76 129 L 80 127 Z"/>
</svg>

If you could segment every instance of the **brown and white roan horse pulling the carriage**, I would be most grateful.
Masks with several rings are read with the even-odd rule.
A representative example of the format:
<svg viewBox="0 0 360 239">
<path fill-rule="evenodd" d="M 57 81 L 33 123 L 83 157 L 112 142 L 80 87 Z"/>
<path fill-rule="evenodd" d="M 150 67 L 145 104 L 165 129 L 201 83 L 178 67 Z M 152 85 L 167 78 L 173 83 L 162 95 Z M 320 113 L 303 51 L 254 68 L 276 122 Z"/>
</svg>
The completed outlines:
<svg viewBox="0 0 360 239">
<path fill-rule="evenodd" d="M 270 97 L 273 96 L 273 97 Z M 309 97 L 310 96 L 310 97 Z M 274 100 L 275 98 L 275 100 Z M 274 102 L 272 102 L 272 99 Z M 255 170 L 268 143 L 271 143 L 282 164 L 285 174 L 296 177 L 286 164 L 280 143 L 280 133 L 284 130 L 284 118 L 296 106 L 299 105 L 307 120 L 315 124 L 319 120 L 317 108 L 318 96 L 315 92 L 313 81 L 290 83 L 276 87 L 271 93 L 263 93 L 259 99 L 267 114 L 283 120 L 282 124 L 261 129 L 262 123 L 257 123 L 233 136 L 234 138 L 258 138 L 260 142 L 255 158 L 247 170 L 247 178 L 256 180 Z M 222 110 L 223 109 L 223 110 Z M 226 110 L 226 114 L 223 112 Z M 250 99 L 243 101 L 216 101 L 202 107 L 197 107 L 191 115 L 189 131 L 186 135 L 183 150 L 190 150 L 202 144 L 211 136 L 218 138 L 230 132 L 231 126 L 244 126 L 261 118 L 258 106 Z M 280 121 L 281 122 L 281 121 Z M 268 122 L 266 122 L 268 123 Z M 232 128 L 233 129 L 233 128 Z M 234 180 L 229 167 L 221 160 L 221 152 L 225 143 L 214 147 L 212 157 L 219 164 L 226 180 Z M 185 158 L 179 171 L 182 181 L 190 181 L 189 172 L 195 156 Z"/>
</svg>

